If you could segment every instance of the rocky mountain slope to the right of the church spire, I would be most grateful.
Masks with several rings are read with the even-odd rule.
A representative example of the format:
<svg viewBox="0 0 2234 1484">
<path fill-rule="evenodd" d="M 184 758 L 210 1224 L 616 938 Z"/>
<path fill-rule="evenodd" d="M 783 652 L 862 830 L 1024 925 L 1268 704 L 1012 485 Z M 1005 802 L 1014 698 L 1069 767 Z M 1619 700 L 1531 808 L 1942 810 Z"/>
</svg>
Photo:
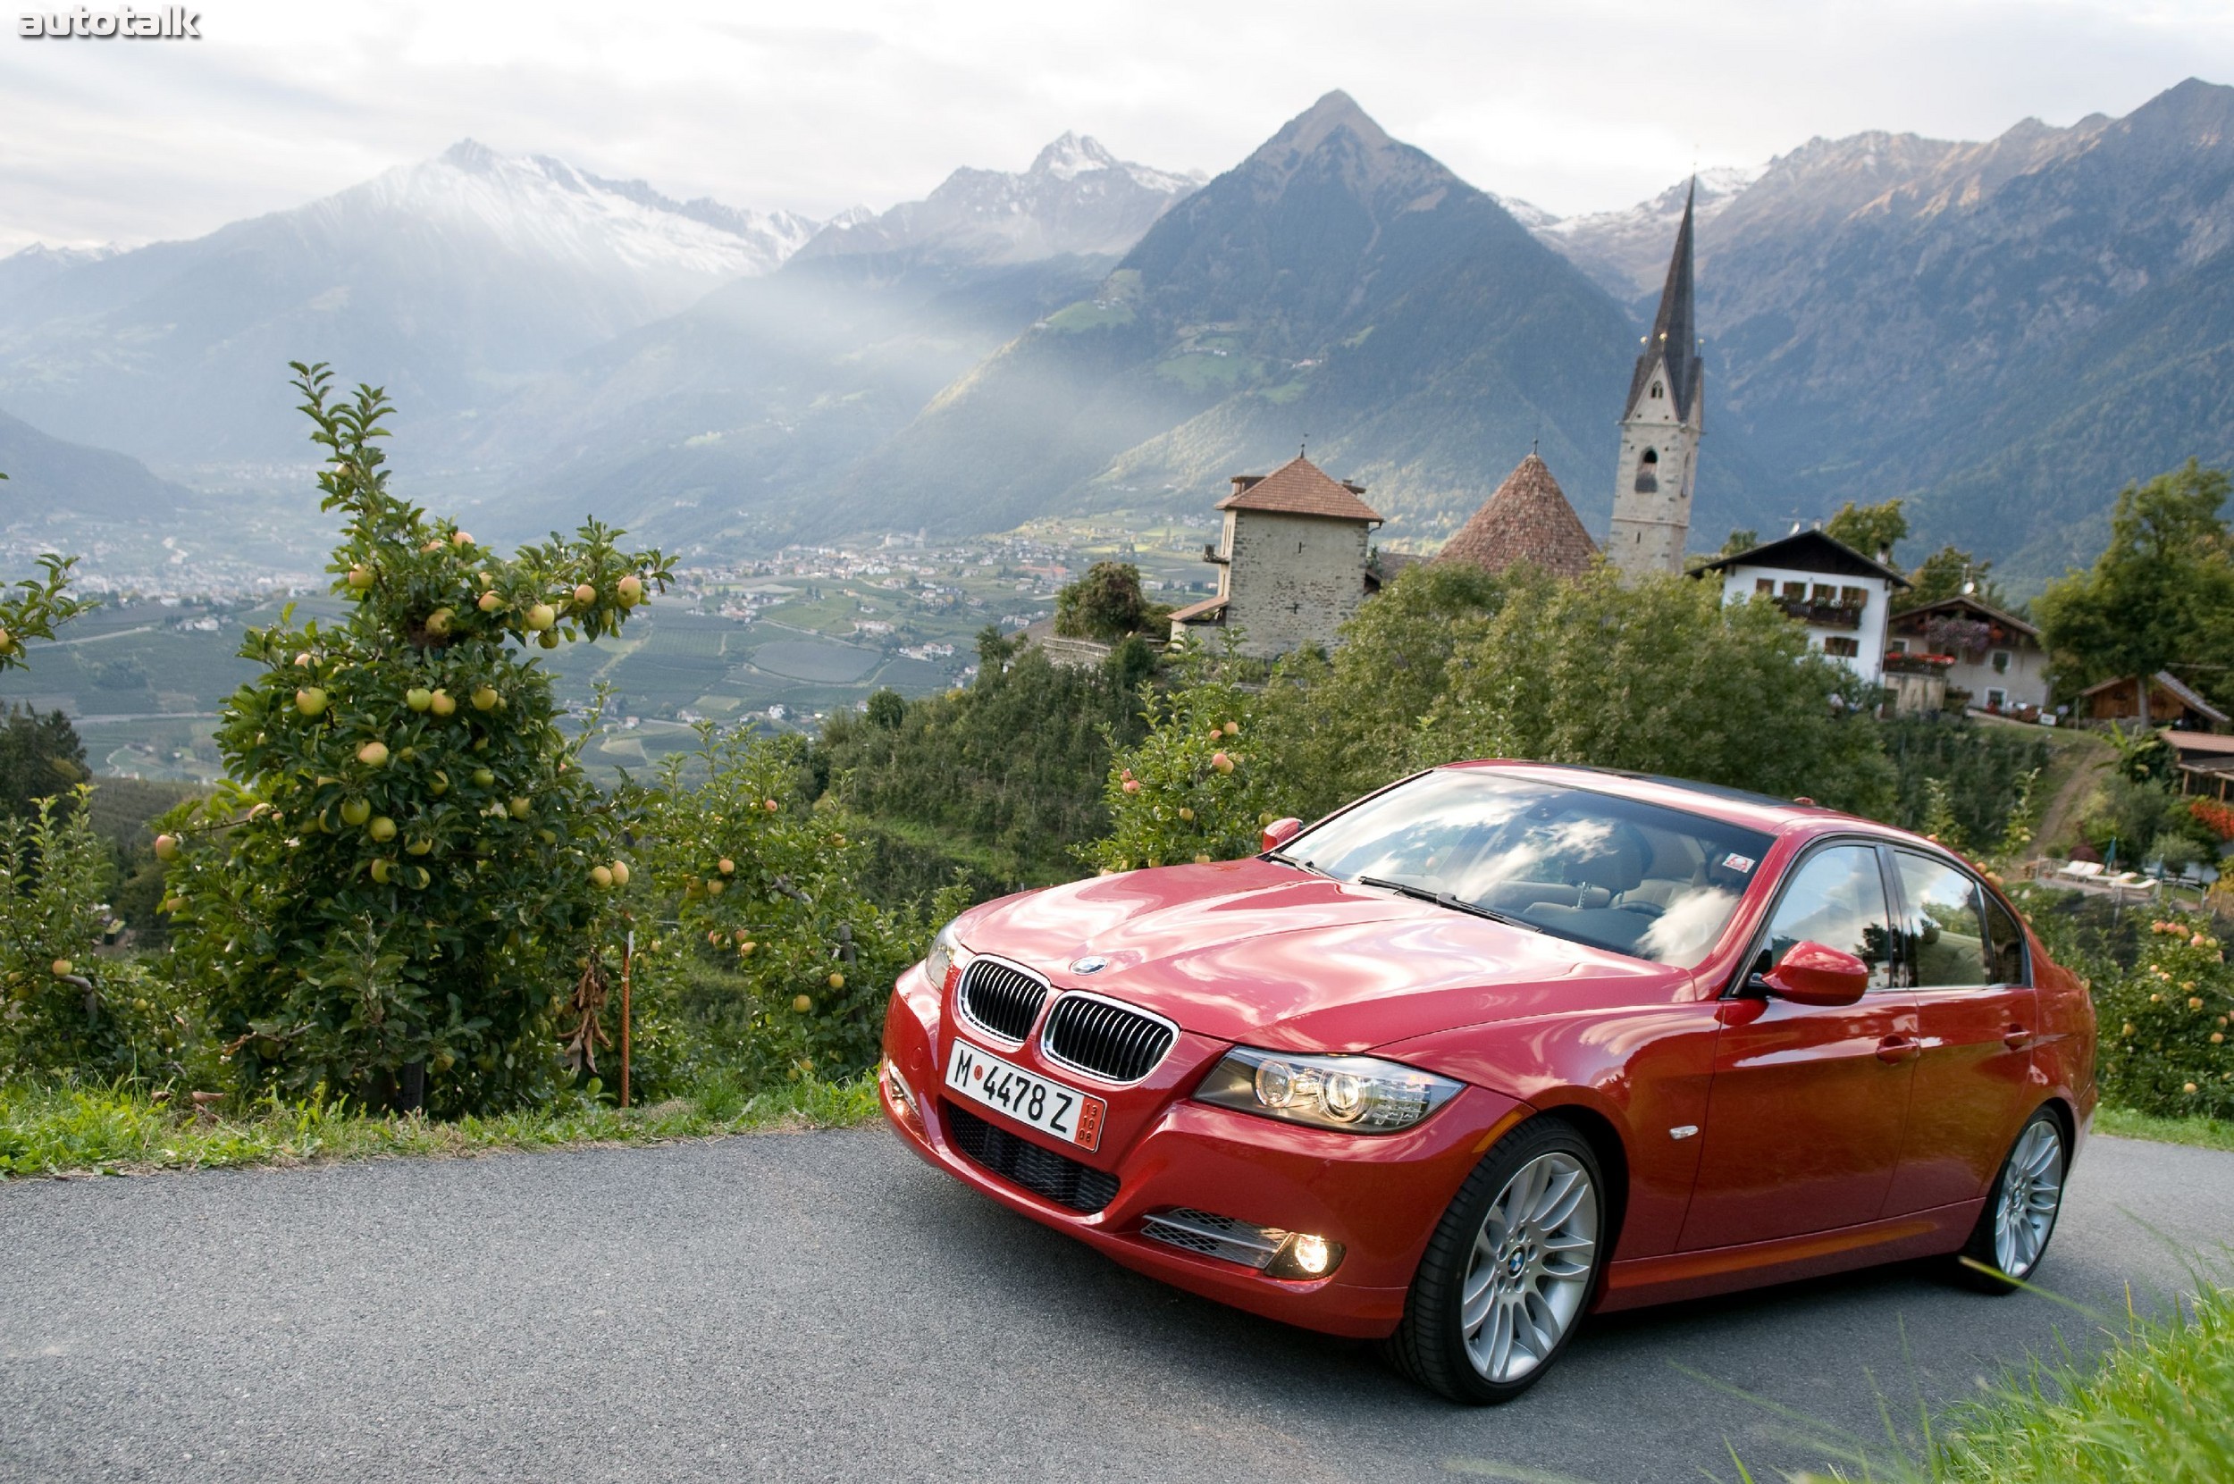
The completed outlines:
<svg viewBox="0 0 2234 1484">
<path fill-rule="evenodd" d="M 1664 201 L 1537 230 L 1617 282 Z M 1810 141 L 1702 212 L 1711 438 L 1769 472 L 1769 514 L 1899 494 L 1917 545 L 2040 581 L 2100 545 L 2122 483 L 2234 458 L 2230 246 L 2230 87 L 1986 143 Z"/>
</svg>

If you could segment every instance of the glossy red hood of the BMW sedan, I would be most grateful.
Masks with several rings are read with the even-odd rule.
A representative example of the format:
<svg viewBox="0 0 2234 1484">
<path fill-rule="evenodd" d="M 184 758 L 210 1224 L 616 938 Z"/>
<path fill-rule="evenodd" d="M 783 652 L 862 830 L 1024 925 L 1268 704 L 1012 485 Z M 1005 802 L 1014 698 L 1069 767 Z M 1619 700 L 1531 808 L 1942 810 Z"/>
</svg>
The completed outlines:
<svg viewBox="0 0 2234 1484">
<path fill-rule="evenodd" d="M 1273 860 L 1099 876 L 958 927 L 1057 988 L 1273 1050 L 1367 1050 L 1486 1021 L 1667 1003 L 1691 974 Z M 1070 965 L 1104 959 L 1092 974 Z"/>
</svg>

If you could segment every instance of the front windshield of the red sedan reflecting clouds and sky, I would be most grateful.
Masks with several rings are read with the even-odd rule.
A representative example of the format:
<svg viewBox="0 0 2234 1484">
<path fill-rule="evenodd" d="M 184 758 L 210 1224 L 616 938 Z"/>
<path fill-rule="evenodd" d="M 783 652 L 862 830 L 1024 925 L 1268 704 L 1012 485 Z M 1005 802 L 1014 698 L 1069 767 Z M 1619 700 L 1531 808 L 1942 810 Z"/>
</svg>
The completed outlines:
<svg viewBox="0 0 2234 1484">
<path fill-rule="evenodd" d="M 1696 965 L 1769 836 L 1495 769 L 1436 769 L 1307 829 L 1282 860 L 1450 896 L 1575 943 Z"/>
</svg>

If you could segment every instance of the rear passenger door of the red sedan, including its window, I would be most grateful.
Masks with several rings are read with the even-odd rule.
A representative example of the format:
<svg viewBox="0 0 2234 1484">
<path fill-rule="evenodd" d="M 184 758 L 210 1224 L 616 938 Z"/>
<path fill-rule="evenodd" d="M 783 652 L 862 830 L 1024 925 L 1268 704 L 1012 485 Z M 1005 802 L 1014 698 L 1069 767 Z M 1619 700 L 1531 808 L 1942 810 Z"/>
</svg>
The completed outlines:
<svg viewBox="0 0 2234 1484">
<path fill-rule="evenodd" d="M 1894 849 L 1899 977 L 1923 1055 L 1888 1216 L 1975 1200 L 2033 1111 L 2040 1010 L 2024 932 L 1970 872 Z"/>
</svg>

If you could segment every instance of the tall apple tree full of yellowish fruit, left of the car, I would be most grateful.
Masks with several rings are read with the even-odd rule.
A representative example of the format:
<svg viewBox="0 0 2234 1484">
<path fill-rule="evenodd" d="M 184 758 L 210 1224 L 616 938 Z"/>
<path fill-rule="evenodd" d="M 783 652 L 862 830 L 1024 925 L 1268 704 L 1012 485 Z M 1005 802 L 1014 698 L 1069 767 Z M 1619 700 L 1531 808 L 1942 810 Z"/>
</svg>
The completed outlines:
<svg viewBox="0 0 2234 1484">
<path fill-rule="evenodd" d="M 241 646 L 261 673 L 217 726 L 230 782 L 156 840 L 179 965 L 246 1088 L 534 1100 L 628 863 L 532 655 L 617 632 L 670 572 L 596 521 L 500 556 L 389 492 L 382 391 L 295 373 L 349 612 Z"/>
</svg>

